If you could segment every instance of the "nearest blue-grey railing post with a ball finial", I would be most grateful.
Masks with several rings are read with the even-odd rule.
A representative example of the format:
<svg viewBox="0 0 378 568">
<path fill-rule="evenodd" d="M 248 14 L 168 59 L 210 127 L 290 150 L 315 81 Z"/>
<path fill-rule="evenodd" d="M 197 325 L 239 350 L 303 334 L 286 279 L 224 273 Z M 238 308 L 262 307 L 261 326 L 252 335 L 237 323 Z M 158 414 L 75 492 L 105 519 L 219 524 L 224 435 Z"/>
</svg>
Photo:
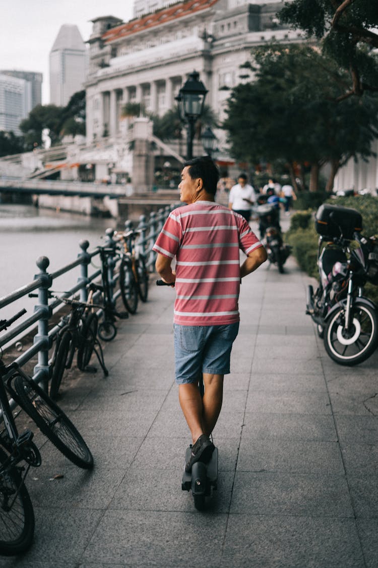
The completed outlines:
<svg viewBox="0 0 378 568">
<path fill-rule="evenodd" d="M 40 311 L 40 318 L 38 320 L 38 333 L 34 337 L 33 343 L 40 344 L 38 351 L 38 364 L 34 367 L 35 380 L 42 382 L 43 389 L 48 390 L 49 382 L 49 318 L 51 316 L 51 308 L 49 307 L 48 289 L 52 284 L 50 274 L 46 272 L 50 261 L 46 256 L 40 256 L 36 262 L 40 273 L 36 274 L 34 279 L 41 279 L 41 285 L 38 289 L 38 304 L 35 306 L 34 311 Z"/>
</svg>

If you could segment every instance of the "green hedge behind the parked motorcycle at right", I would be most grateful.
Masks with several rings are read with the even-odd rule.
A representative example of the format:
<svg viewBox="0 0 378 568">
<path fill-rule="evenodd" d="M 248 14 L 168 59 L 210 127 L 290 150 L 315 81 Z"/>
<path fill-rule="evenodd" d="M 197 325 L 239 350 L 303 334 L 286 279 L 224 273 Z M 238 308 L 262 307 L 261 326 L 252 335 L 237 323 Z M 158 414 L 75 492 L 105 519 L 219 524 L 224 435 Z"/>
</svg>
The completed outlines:
<svg viewBox="0 0 378 568">
<path fill-rule="evenodd" d="M 362 214 L 363 235 L 366 237 L 378 235 L 378 198 L 371 195 L 359 195 L 357 197 L 337 197 L 328 199 L 327 202 L 356 209 Z M 300 269 L 318 279 L 316 265 L 318 234 L 315 231 L 314 214 L 315 211 L 312 210 L 294 213 L 290 219 L 290 228 L 285 233 L 285 241 L 292 246 L 292 253 Z M 367 283 L 364 294 L 378 306 L 378 286 Z"/>
</svg>

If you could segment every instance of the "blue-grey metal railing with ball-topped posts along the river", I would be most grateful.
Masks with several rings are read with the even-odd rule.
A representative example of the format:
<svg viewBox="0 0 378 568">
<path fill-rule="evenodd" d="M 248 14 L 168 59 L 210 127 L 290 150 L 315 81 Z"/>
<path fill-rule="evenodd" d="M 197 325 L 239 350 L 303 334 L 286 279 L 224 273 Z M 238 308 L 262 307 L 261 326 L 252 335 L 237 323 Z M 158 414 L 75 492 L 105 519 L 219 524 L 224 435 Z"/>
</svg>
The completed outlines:
<svg viewBox="0 0 378 568">
<path fill-rule="evenodd" d="M 146 258 L 146 264 L 148 270 L 152 272 L 154 270 L 154 263 L 156 258 L 156 253 L 152 250 L 155 243 L 156 237 L 162 230 L 165 219 L 167 219 L 169 212 L 171 212 L 177 204 L 172 204 L 171 206 L 166 206 L 160 209 L 158 212 L 151 212 L 149 218 L 145 215 L 141 215 L 139 218 L 139 223 L 135 229 L 138 230 L 139 236 L 136 243 L 138 250 L 143 253 Z M 128 220 L 125 223 L 125 230 L 128 231 L 133 227 L 133 223 Z M 111 246 L 115 245 L 112 240 L 114 229 L 107 229 L 105 235 L 105 245 Z M 40 383 L 46 390 L 48 387 L 48 381 L 50 376 L 49 369 L 49 349 L 52 346 L 54 336 L 56 336 L 59 325 L 56 325 L 49 331 L 49 321 L 52 318 L 53 310 L 63 304 L 62 300 L 54 298 L 52 302 L 49 303 L 50 289 L 52 288 L 54 280 L 60 277 L 62 274 L 66 274 L 80 266 L 80 275 L 77 282 L 62 295 L 69 297 L 79 293 L 80 300 L 85 302 L 87 300 L 87 285 L 91 281 L 98 279 L 101 275 L 101 269 L 95 270 L 94 273 L 88 275 L 88 265 L 90 264 L 92 258 L 99 255 L 99 248 L 96 248 L 92 252 L 88 252 L 89 243 L 87 240 L 80 241 L 79 243 L 81 252 L 78 254 L 77 260 L 70 262 L 61 269 L 56 270 L 56 272 L 48 273 L 47 269 L 50 261 L 47 257 L 41 256 L 37 259 L 36 264 L 39 268 L 39 274 L 35 276 L 32 282 L 26 284 L 25 286 L 15 290 L 11 294 L 3 296 L 0 298 L 0 309 L 8 306 L 12 302 L 24 298 L 31 294 L 34 290 L 37 290 L 37 304 L 34 308 L 33 315 L 29 316 L 22 321 L 19 325 L 16 325 L 10 331 L 4 333 L 0 337 L 0 348 L 4 345 L 9 345 L 12 339 L 20 336 L 23 332 L 33 331 L 35 324 L 37 324 L 37 333 L 33 338 L 33 345 L 30 346 L 24 353 L 22 353 L 15 362 L 19 366 L 23 366 L 28 361 L 30 361 L 36 354 L 38 354 L 38 362 L 34 367 L 33 380 Z M 114 259 L 116 258 L 116 248 L 114 246 Z M 112 289 L 115 288 L 115 283 L 117 281 L 116 274 L 116 260 L 109 258 L 108 270 L 109 270 L 109 281 L 112 283 Z M 117 293 L 114 293 L 114 301 L 117 299 Z M 12 404 L 13 401 L 11 401 Z"/>
</svg>

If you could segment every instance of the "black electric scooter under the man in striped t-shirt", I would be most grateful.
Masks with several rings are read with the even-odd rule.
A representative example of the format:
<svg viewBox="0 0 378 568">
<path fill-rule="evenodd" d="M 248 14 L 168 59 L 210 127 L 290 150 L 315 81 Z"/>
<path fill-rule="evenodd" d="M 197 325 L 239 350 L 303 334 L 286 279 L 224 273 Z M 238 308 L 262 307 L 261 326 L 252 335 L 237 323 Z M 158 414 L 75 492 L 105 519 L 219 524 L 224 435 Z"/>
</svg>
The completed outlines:
<svg viewBox="0 0 378 568">
<path fill-rule="evenodd" d="M 172 286 L 163 280 L 157 280 L 156 286 Z M 203 396 L 205 386 L 203 385 L 202 373 L 198 379 L 198 389 Z M 202 511 L 206 506 L 206 497 L 210 497 L 213 490 L 218 486 L 218 448 L 214 447 L 211 459 L 207 463 L 198 461 L 193 463 L 191 471 L 185 471 L 185 463 L 189 461 L 192 446 L 186 448 L 184 472 L 182 473 L 182 491 L 192 491 L 194 507 Z"/>
</svg>

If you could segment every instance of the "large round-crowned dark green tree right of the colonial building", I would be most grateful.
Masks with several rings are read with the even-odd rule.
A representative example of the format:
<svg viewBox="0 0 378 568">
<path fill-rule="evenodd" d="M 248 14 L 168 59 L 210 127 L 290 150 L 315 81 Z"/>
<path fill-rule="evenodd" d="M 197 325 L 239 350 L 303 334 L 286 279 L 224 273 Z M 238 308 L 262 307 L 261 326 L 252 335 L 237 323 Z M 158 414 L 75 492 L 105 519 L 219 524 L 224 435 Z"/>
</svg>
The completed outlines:
<svg viewBox="0 0 378 568">
<path fill-rule="evenodd" d="M 308 162 L 314 191 L 329 162 L 332 189 L 335 173 L 351 156 L 372 155 L 377 97 L 364 93 L 338 104 L 346 73 L 311 45 L 271 45 L 253 55 L 255 80 L 233 89 L 223 124 L 233 156 L 250 164 L 284 160 L 294 183 L 295 162 Z"/>
</svg>

